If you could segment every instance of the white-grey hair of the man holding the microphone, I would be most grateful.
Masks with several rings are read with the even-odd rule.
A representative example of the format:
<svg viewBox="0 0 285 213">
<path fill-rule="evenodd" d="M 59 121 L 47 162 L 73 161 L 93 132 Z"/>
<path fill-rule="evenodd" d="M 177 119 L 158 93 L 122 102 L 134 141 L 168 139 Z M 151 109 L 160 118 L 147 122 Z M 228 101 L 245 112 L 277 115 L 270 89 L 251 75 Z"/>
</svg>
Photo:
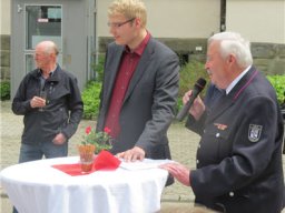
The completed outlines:
<svg viewBox="0 0 285 213">
<path fill-rule="evenodd" d="M 219 41 L 219 52 L 224 59 L 229 54 L 234 54 L 240 68 L 253 64 L 250 42 L 244 39 L 239 33 L 219 32 L 208 39 L 208 44 L 213 41 Z"/>
</svg>

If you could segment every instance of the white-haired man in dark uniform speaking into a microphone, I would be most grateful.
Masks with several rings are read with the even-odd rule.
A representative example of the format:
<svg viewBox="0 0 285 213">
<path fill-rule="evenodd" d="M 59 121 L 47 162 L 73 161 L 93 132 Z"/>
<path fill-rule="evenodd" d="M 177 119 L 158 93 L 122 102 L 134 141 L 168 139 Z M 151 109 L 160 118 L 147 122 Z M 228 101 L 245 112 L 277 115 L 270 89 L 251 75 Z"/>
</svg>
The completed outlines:
<svg viewBox="0 0 285 213">
<path fill-rule="evenodd" d="M 202 135 L 196 170 L 165 164 L 191 186 L 195 202 L 226 213 L 268 213 L 283 209 L 283 121 L 276 93 L 253 67 L 249 42 L 222 32 L 208 42 L 205 68 L 225 93 L 207 109 L 198 97 L 186 126 Z M 191 91 L 184 95 L 184 103 Z"/>
</svg>

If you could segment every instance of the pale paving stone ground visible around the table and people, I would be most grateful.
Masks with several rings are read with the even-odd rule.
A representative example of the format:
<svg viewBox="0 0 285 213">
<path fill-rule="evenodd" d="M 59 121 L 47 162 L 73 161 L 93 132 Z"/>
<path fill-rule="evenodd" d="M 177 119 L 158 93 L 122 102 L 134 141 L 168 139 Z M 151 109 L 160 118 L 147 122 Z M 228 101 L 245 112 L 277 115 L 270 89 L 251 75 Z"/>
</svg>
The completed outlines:
<svg viewBox="0 0 285 213">
<path fill-rule="evenodd" d="M 85 128 L 88 125 L 96 125 L 96 121 L 82 120 L 76 134 L 69 142 L 69 155 L 77 155 L 76 145 L 81 141 Z M 0 155 L 1 164 L 0 169 L 4 169 L 9 165 L 18 162 L 20 138 L 23 129 L 22 116 L 14 115 L 11 112 L 11 102 L 1 102 L 0 113 Z M 181 162 L 189 168 L 195 168 L 195 155 L 198 145 L 199 136 L 184 128 L 184 123 L 174 122 L 168 131 L 168 138 L 170 142 L 170 151 L 173 160 Z M 0 213 L 10 213 L 11 203 L 0 186 Z M 161 196 L 161 212 L 191 212 L 194 201 L 194 194 L 190 187 L 186 187 L 183 184 L 175 182 L 175 184 L 166 187 Z M 285 211 L 283 211 L 285 213 Z"/>
</svg>

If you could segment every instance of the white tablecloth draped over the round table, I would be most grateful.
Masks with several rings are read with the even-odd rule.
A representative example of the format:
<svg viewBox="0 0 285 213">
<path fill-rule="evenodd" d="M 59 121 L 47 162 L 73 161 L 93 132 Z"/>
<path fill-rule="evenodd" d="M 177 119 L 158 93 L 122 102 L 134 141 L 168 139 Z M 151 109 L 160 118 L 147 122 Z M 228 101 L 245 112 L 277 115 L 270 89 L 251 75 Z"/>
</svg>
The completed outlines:
<svg viewBox="0 0 285 213">
<path fill-rule="evenodd" d="M 21 163 L 1 171 L 1 185 L 19 213 L 153 213 L 160 210 L 167 160 L 122 163 L 116 171 L 70 176 L 51 165 L 78 156 Z"/>
</svg>

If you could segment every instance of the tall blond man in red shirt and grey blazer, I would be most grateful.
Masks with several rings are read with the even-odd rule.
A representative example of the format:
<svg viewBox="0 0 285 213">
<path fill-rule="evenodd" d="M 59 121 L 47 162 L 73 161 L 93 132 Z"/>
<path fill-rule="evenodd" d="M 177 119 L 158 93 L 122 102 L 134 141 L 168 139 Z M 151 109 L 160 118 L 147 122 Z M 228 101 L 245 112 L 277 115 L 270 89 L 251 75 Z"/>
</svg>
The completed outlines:
<svg viewBox="0 0 285 213">
<path fill-rule="evenodd" d="M 111 152 L 126 161 L 170 159 L 167 130 L 178 94 L 177 54 L 146 29 L 140 0 L 116 0 L 108 11 L 108 45 L 97 131 L 111 130 Z"/>
</svg>

